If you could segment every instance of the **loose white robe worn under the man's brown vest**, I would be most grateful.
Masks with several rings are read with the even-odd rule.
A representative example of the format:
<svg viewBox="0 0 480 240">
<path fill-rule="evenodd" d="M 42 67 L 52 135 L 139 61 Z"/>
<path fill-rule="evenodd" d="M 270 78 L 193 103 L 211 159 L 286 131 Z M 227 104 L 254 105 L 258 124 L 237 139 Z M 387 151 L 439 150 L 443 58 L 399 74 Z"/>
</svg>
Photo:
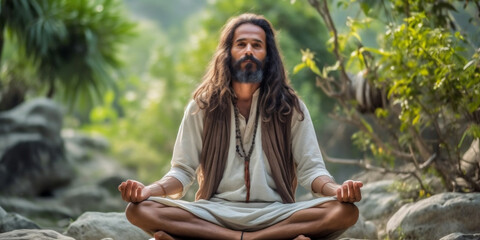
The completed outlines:
<svg viewBox="0 0 480 240">
<path fill-rule="evenodd" d="M 255 92 L 250 109 L 249 121 L 240 115 L 240 132 L 245 151 L 252 143 L 255 127 L 255 114 L 259 90 Z M 330 173 L 325 168 L 312 120 L 307 108 L 301 103 L 305 119 L 295 111 L 292 117 L 292 153 L 297 165 L 298 183 L 311 190 L 315 178 Z M 185 195 L 196 177 L 202 147 L 204 112 L 191 101 L 180 125 L 173 150 L 171 169 L 165 176 L 178 179 L 183 185 L 183 192 L 168 198 L 150 197 L 164 205 L 185 209 L 192 214 L 234 230 L 255 231 L 278 223 L 294 212 L 310 208 L 335 197 L 318 197 L 308 201 L 284 204 L 276 192 L 275 182 L 265 153 L 262 151 L 261 120 L 257 128 L 254 150 L 250 159 L 250 203 L 245 203 L 246 186 L 244 182 L 244 160 L 235 151 L 235 116 L 232 107 L 230 145 L 227 164 L 217 193 L 210 200 L 187 202 L 176 200 Z"/>
</svg>

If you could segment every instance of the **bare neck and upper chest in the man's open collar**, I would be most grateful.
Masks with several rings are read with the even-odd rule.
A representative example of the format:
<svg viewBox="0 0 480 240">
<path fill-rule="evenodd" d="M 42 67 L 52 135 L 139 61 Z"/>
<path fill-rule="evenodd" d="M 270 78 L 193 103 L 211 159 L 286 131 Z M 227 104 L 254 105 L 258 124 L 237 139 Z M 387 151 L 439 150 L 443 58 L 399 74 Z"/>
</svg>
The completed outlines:
<svg viewBox="0 0 480 240">
<path fill-rule="evenodd" d="M 240 83 L 233 81 L 232 87 L 237 96 L 238 110 L 248 121 L 253 93 L 260 87 L 260 83 Z"/>
</svg>

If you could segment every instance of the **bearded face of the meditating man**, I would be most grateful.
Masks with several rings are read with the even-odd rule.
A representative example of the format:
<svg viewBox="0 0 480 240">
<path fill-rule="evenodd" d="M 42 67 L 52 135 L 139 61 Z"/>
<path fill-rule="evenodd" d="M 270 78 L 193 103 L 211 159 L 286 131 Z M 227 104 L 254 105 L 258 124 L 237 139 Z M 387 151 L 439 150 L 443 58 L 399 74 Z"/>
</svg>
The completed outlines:
<svg viewBox="0 0 480 240">
<path fill-rule="evenodd" d="M 267 43 L 265 31 L 261 27 L 250 23 L 237 27 L 230 53 L 237 81 L 244 83 L 262 81 Z"/>
</svg>

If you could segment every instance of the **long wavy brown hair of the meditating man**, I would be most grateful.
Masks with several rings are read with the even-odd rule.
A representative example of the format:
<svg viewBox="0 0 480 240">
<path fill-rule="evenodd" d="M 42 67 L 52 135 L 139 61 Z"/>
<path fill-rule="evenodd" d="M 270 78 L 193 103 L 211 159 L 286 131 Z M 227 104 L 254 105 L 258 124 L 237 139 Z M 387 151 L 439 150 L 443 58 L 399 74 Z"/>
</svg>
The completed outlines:
<svg viewBox="0 0 480 240">
<path fill-rule="evenodd" d="M 228 21 L 223 27 L 217 50 L 203 77 L 202 84 L 193 94 L 193 99 L 200 109 L 211 112 L 217 108 L 227 109 L 235 94 L 232 88 L 233 73 L 231 68 L 233 36 L 242 24 L 254 24 L 265 31 L 267 56 L 263 69 L 263 80 L 260 83 L 260 111 L 263 121 L 268 122 L 273 115 L 280 121 L 293 113 L 295 108 L 304 118 L 298 96 L 289 84 L 283 66 L 281 54 L 275 40 L 272 24 L 263 16 L 245 13 Z"/>
</svg>

